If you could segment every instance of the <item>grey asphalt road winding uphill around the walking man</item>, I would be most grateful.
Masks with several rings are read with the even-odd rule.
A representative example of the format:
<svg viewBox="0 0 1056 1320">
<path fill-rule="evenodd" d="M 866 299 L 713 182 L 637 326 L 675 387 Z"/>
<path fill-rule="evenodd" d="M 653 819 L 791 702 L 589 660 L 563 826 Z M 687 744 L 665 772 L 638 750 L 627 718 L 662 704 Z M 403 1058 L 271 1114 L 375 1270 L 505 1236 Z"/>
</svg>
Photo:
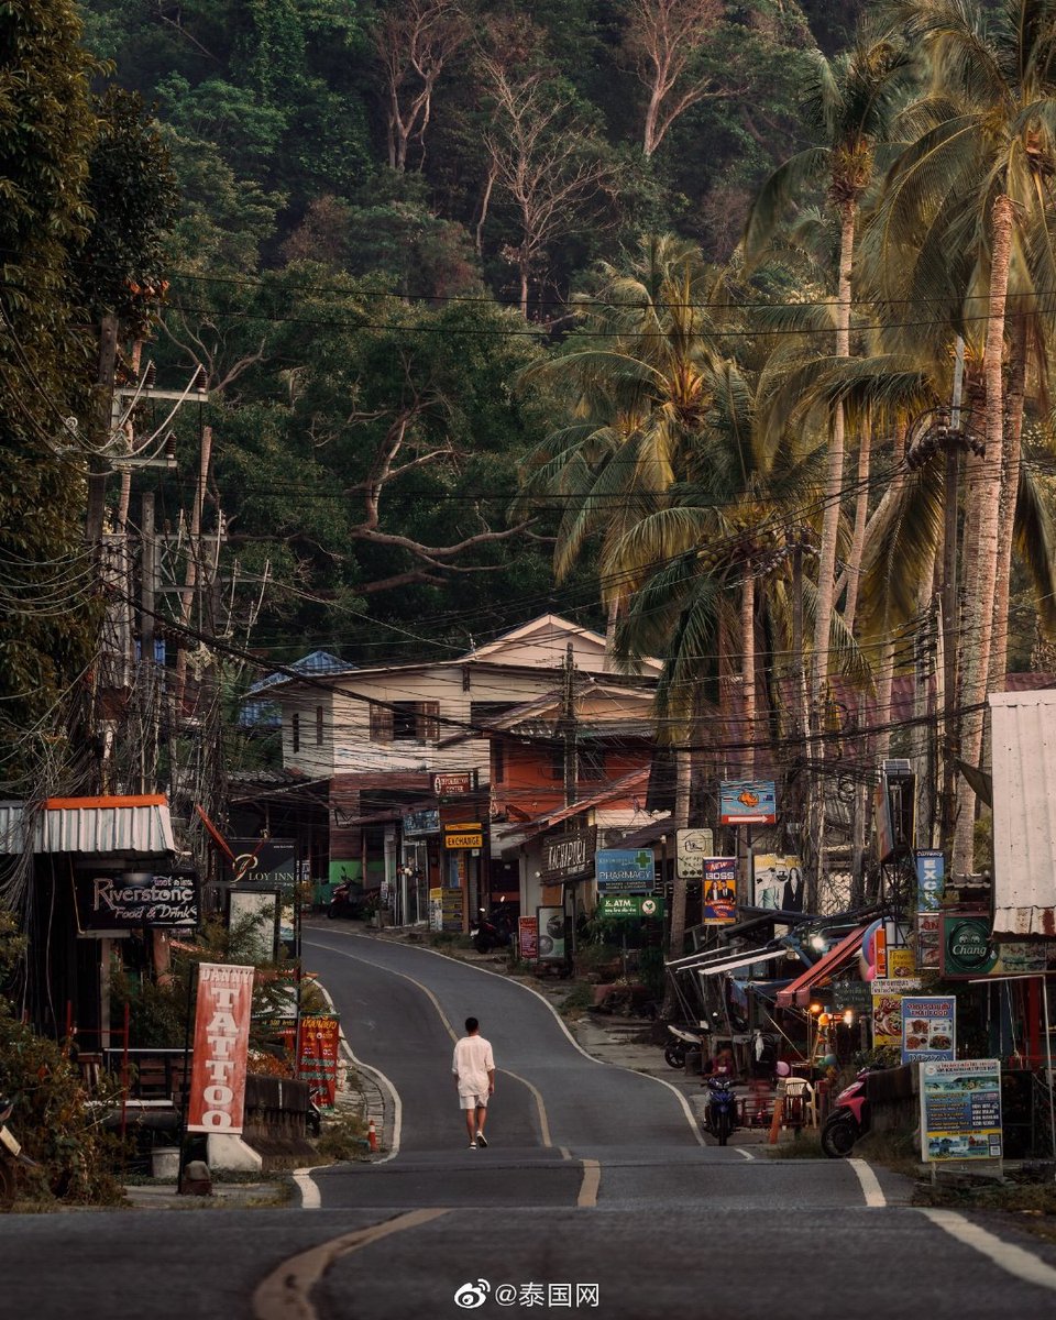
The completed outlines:
<svg viewBox="0 0 1056 1320">
<path fill-rule="evenodd" d="M 913 1209 L 862 1162 L 702 1143 L 675 1088 L 589 1059 L 513 982 L 346 927 L 308 929 L 305 961 L 389 1090 L 392 1155 L 314 1171 L 314 1209 L 8 1216 L 0 1317 L 1056 1312 L 1051 1245 Z M 499 1069 L 477 1151 L 450 1077 L 470 1014 Z"/>
</svg>

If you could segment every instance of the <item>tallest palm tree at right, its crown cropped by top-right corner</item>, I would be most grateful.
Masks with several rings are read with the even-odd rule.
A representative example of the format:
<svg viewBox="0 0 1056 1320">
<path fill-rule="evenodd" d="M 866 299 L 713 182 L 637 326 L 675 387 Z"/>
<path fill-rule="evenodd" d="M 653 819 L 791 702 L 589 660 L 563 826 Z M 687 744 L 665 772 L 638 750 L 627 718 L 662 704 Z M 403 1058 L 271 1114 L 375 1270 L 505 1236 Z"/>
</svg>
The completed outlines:
<svg viewBox="0 0 1056 1320">
<path fill-rule="evenodd" d="M 960 755 L 977 763 L 991 677 L 1002 490 L 1018 488 L 1018 425 L 1005 430 L 1005 330 L 1010 289 L 1056 286 L 1049 181 L 1056 172 L 1056 4 L 906 0 L 907 38 L 929 57 L 932 83 L 907 115 L 915 141 L 895 162 L 882 203 L 884 232 L 927 235 L 931 253 L 968 257 L 985 326 L 985 457 L 969 463 L 974 532 L 960 704 Z M 902 239 L 904 244 L 904 238 Z M 936 261 L 936 264 L 939 264 Z M 927 268 L 924 273 L 931 273 Z M 941 277 L 940 277 L 941 279 Z M 945 280 L 948 286 L 949 281 Z M 962 296 L 974 290 L 962 288 Z M 985 309 L 985 310 L 983 310 Z M 1007 440 L 1007 442 L 1006 442 Z M 1005 520 L 1011 537 L 1012 517 Z M 1005 620 L 999 620 L 1003 630 Z M 974 799 L 958 801 L 954 871 L 969 871 Z"/>
</svg>

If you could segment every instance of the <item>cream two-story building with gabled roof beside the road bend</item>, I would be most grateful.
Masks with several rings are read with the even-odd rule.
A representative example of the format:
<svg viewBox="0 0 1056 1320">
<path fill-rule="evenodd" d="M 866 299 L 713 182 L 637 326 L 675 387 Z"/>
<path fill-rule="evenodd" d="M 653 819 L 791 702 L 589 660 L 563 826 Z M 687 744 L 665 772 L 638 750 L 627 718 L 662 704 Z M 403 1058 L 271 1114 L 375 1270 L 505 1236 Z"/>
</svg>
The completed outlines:
<svg viewBox="0 0 1056 1320">
<path fill-rule="evenodd" d="M 520 890 L 521 867 L 508 858 L 496 862 L 492 879 L 487 733 L 508 711 L 552 702 L 569 669 L 578 684 L 602 684 L 599 700 L 611 704 L 624 693 L 651 705 L 660 663 L 643 661 L 638 676 L 616 675 L 603 636 L 546 614 L 447 660 L 356 668 L 327 657 L 313 671 L 267 680 L 267 698 L 281 713 L 284 771 L 326 793 L 326 878 L 395 895 L 400 921 L 426 917 L 429 890 L 447 890 L 451 900 L 458 890 L 463 927 L 492 892 Z M 263 696 L 263 685 L 249 696 Z M 640 715 L 645 706 L 634 709 Z M 550 734 L 521 733 L 519 741 L 535 743 L 541 764 L 556 764 Z M 587 774 L 619 776 L 615 748 L 609 770 L 593 755 L 583 752 L 583 766 L 594 766 Z M 511 805 L 506 788 L 500 812 Z M 564 762 L 556 780 L 536 784 L 533 800 L 564 805 Z"/>
</svg>

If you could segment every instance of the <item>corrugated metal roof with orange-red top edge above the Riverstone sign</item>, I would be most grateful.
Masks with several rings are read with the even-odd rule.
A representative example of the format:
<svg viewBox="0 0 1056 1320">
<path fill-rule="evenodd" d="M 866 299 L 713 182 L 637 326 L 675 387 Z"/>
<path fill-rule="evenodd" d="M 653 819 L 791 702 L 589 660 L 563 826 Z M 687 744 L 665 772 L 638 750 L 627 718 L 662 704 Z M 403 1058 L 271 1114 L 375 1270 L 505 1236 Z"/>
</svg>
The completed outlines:
<svg viewBox="0 0 1056 1320">
<path fill-rule="evenodd" d="M 51 797 L 42 808 L 0 804 L 0 853 L 22 853 L 32 822 L 34 853 L 153 857 L 176 851 L 169 804 L 140 797 Z"/>
</svg>

